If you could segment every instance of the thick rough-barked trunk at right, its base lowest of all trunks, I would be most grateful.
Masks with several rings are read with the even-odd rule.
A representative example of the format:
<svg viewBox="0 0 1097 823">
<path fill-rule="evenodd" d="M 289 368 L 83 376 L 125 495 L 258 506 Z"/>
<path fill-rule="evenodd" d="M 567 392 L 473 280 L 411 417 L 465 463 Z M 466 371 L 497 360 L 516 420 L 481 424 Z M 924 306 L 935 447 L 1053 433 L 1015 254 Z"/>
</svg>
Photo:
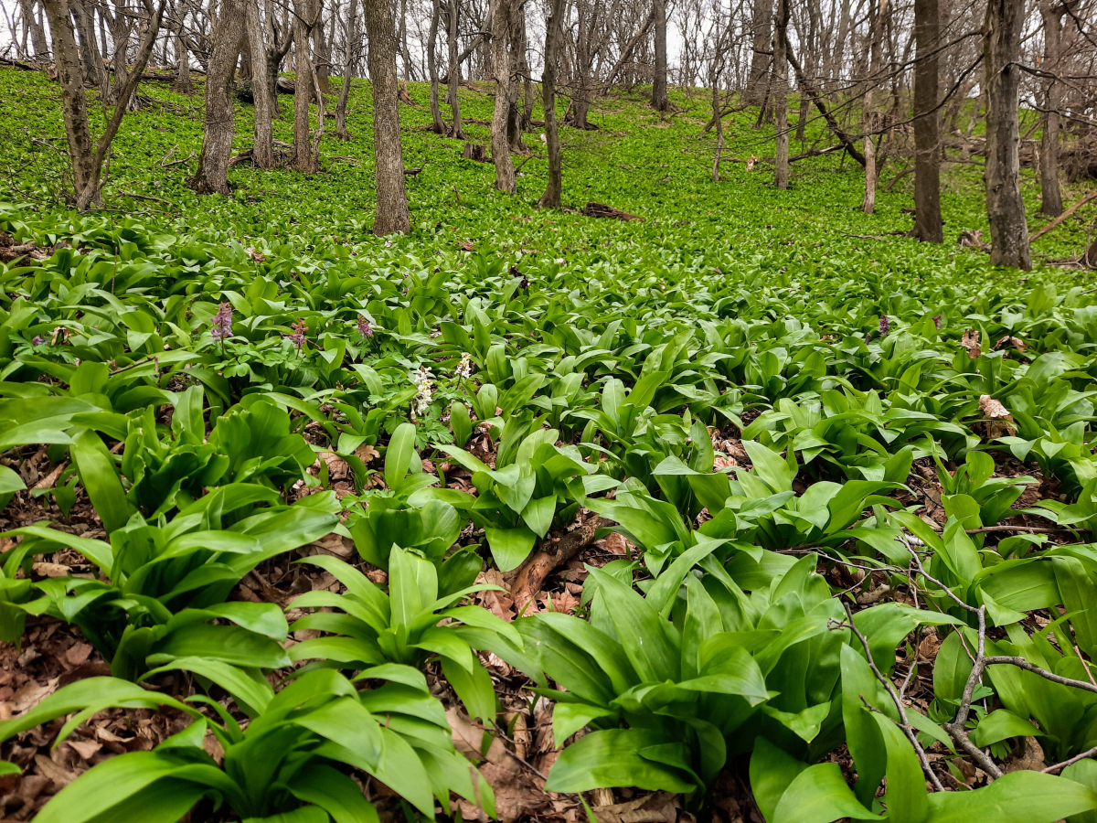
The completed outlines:
<svg viewBox="0 0 1097 823">
<path fill-rule="evenodd" d="M 988 0 L 983 24 L 986 70 L 986 213 L 991 223 L 991 263 L 1031 269 L 1028 225 L 1021 199 L 1018 148 L 1020 123 L 1021 0 Z"/>
</svg>

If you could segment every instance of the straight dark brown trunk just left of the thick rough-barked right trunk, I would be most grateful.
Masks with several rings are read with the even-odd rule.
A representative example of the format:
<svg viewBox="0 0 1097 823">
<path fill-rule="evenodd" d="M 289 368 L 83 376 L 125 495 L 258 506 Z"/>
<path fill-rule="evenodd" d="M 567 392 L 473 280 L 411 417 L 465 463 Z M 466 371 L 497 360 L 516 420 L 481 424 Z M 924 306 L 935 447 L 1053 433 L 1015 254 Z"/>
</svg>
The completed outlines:
<svg viewBox="0 0 1097 823">
<path fill-rule="evenodd" d="M 915 0 L 914 36 L 918 43 L 914 66 L 914 236 L 924 243 L 943 243 L 937 0 Z"/>
</svg>

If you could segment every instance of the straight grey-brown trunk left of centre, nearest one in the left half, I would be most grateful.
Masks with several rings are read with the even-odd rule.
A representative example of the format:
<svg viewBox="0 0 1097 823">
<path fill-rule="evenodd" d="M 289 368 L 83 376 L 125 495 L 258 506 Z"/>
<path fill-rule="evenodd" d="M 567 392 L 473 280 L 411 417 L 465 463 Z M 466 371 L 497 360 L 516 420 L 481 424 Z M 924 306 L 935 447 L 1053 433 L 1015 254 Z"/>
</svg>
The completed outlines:
<svg viewBox="0 0 1097 823">
<path fill-rule="evenodd" d="M 451 3 L 454 0 L 450 0 Z M 400 150 L 400 101 L 396 82 L 396 25 L 391 0 L 365 0 L 365 31 L 370 38 L 370 80 L 373 87 L 373 157 L 377 185 L 375 235 L 411 230 L 404 188 Z"/>
</svg>

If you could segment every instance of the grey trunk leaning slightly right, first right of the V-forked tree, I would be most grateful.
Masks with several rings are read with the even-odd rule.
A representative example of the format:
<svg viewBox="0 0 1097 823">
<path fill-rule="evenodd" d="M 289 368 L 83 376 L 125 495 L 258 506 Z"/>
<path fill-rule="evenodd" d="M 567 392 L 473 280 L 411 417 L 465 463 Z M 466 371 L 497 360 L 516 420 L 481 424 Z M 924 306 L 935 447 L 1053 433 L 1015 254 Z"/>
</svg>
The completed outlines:
<svg viewBox="0 0 1097 823">
<path fill-rule="evenodd" d="M 244 0 L 222 0 L 206 68 L 205 134 L 199 168 L 188 185 L 199 194 L 228 194 L 228 161 L 233 155 L 233 77 L 244 31 Z"/>
</svg>

